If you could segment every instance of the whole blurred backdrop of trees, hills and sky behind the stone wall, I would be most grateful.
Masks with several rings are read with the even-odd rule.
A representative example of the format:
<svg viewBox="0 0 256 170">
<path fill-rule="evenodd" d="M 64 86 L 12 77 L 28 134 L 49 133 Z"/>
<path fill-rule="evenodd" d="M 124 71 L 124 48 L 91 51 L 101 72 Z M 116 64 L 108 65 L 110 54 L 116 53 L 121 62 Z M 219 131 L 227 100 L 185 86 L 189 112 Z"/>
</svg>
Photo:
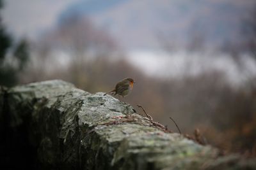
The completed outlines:
<svg viewBox="0 0 256 170">
<path fill-rule="evenodd" d="M 256 155 L 255 0 L 0 0 L 0 85 L 61 79 Z"/>
</svg>

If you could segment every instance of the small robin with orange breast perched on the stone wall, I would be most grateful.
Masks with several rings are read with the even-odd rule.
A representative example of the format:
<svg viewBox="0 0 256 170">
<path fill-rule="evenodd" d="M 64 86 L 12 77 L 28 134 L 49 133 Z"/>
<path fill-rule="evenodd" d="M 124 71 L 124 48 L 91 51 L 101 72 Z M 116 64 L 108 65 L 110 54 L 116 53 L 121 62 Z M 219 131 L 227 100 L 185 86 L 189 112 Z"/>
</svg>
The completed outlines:
<svg viewBox="0 0 256 170">
<path fill-rule="evenodd" d="M 118 94 L 122 97 L 125 97 L 131 92 L 134 83 L 135 81 L 132 78 L 124 78 L 123 80 L 116 83 L 115 89 L 107 92 L 106 94 L 104 94 L 104 96 L 111 92 L 115 92 L 114 95 Z"/>
</svg>

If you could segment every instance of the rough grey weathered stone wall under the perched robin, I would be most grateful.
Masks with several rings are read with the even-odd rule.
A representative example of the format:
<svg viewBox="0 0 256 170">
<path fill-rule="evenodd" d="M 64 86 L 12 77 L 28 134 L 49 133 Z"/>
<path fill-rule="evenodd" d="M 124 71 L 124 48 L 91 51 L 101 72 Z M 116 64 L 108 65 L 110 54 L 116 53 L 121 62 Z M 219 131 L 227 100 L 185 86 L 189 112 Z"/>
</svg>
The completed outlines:
<svg viewBox="0 0 256 170">
<path fill-rule="evenodd" d="M 129 104 L 103 94 L 90 94 L 60 80 L 8 90 L 3 100 L 10 127 L 24 127 L 29 147 L 35 150 L 34 167 L 256 169 L 255 159 L 220 156 L 216 148 L 163 132 Z M 0 93 L 0 106 L 1 100 Z"/>
</svg>

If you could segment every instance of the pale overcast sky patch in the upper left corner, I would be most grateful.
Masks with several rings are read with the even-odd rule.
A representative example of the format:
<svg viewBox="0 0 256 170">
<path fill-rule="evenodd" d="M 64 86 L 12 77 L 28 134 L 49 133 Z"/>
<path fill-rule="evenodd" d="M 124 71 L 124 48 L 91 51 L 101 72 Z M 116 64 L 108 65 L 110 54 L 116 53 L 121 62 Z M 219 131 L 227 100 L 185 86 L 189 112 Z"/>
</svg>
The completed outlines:
<svg viewBox="0 0 256 170">
<path fill-rule="evenodd" d="M 77 1 L 80 0 L 5 0 L 3 22 L 15 36 L 33 38 L 54 25 L 61 11 Z"/>
</svg>

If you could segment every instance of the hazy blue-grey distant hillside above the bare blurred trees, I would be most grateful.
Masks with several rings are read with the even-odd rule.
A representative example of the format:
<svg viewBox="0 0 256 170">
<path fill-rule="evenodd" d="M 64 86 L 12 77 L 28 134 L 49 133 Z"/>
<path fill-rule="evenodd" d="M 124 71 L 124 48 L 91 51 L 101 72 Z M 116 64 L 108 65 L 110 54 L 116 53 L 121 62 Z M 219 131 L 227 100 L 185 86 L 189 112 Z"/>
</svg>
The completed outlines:
<svg viewBox="0 0 256 170">
<path fill-rule="evenodd" d="M 158 49 L 161 41 L 186 45 L 200 37 L 208 46 L 239 38 L 241 21 L 254 0 L 89 0 L 69 6 L 59 17 L 90 17 L 121 46 Z"/>
</svg>

